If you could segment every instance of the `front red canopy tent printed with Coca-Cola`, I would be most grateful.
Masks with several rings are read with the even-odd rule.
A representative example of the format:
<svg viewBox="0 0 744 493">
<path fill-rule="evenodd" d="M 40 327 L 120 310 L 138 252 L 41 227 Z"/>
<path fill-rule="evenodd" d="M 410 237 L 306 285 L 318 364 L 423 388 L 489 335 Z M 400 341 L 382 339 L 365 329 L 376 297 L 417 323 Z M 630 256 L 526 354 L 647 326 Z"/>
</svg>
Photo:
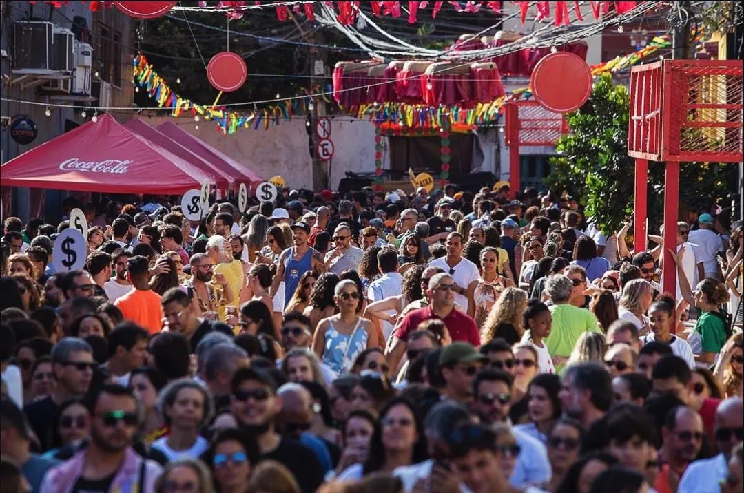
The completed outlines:
<svg viewBox="0 0 744 493">
<path fill-rule="evenodd" d="M 103 115 L 0 167 L 0 185 L 181 195 L 214 179 Z"/>
</svg>

